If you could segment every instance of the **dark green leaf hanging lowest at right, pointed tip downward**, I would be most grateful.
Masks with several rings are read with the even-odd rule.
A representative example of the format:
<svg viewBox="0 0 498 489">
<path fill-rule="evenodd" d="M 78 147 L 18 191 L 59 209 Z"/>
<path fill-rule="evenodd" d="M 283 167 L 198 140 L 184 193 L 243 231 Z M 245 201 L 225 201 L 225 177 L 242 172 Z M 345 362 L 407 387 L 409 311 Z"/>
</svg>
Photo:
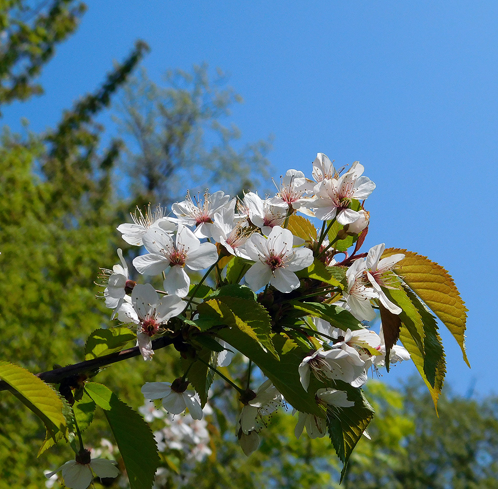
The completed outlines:
<svg viewBox="0 0 498 489">
<path fill-rule="evenodd" d="M 340 411 L 337 408 L 331 408 L 327 411 L 329 436 L 337 456 L 344 464 L 341 472 L 342 481 L 349 458 L 363 432 L 372 421 L 375 411 L 360 388 L 352 387 L 339 380 L 336 382 L 336 388 L 345 390 L 348 393 L 348 399 L 355 402 L 354 406 L 342 407 Z"/>
</svg>

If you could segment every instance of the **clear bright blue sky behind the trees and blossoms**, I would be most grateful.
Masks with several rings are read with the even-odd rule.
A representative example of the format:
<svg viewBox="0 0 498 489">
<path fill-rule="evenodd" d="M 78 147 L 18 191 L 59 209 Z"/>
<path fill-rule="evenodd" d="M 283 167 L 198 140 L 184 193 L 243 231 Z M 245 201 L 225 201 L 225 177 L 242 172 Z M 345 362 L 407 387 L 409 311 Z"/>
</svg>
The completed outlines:
<svg viewBox="0 0 498 489">
<path fill-rule="evenodd" d="M 366 203 L 367 249 L 408 248 L 450 271 L 470 310 L 472 369 L 442 329 L 448 383 L 463 394 L 498 393 L 490 372 L 498 312 L 496 1 L 87 4 L 77 33 L 41 76 L 46 94 L 6 107 L 4 123 L 53 125 L 138 38 L 151 47 L 143 65 L 157 82 L 170 68 L 220 67 L 245 100 L 230 118 L 243 142 L 273 135 L 275 177 L 288 168 L 310 175 L 318 151 L 339 167 L 362 162 L 377 184 Z M 413 371 L 399 365 L 388 376 L 395 382 Z"/>
</svg>

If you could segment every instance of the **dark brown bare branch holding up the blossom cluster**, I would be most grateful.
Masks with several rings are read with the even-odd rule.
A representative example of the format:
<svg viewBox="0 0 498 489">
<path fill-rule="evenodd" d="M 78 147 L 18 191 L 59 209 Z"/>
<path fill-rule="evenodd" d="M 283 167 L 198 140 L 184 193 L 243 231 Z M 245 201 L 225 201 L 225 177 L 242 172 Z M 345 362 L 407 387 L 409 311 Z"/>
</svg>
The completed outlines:
<svg viewBox="0 0 498 489">
<path fill-rule="evenodd" d="M 152 350 L 159 350 L 160 348 L 167 347 L 175 341 L 175 338 L 169 338 L 163 336 L 152 340 Z M 41 378 L 44 382 L 58 384 L 66 377 L 71 375 L 79 375 L 80 373 L 85 373 L 91 370 L 95 370 L 100 367 L 105 367 L 106 365 L 115 364 L 116 362 L 121 362 L 122 360 L 127 360 L 129 358 L 137 357 L 140 355 L 140 350 L 138 347 L 128 348 L 127 350 L 122 350 L 121 352 L 111 353 L 110 355 L 105 355 L 104 357 L 94 358 L 92 360 L 85 360 L 74 365 L 68 365 L 67 367 L 54 368 L 53 370 L 48 370 L 46 372 L 37 373 L 36 376 Z M 10 385 L 4 380 L 0 380 L 0 391 L 9 390 Z"/>
</svg>

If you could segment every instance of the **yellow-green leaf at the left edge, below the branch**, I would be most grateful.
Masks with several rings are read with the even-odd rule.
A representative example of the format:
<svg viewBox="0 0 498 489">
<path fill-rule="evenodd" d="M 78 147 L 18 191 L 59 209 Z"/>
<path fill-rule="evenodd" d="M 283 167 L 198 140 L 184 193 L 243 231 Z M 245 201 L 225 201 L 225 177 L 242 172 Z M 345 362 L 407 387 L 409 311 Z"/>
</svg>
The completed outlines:
<svg viewBox="0 0 498 489">
<path fill-rule="evenodd" d="M 3 360 L 0 361 L 0 378 L 10 385 L 12 394 L 43 421 L 52 438 L 58 431 L 66 432 L 64 404 L 43 380 L 24 368 Z"/>
</svg>

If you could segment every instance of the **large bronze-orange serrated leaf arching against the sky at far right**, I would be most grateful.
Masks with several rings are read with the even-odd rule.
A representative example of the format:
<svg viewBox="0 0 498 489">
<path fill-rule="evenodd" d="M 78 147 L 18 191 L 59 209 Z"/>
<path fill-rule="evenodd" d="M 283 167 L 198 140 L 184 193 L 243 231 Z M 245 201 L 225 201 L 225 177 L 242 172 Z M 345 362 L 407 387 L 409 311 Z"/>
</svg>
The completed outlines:
<svg viewBox="0 0 498 489">
<path fill-rule="evenodd" d="M 465 363 L 470 367 L 465 353 L 465 323 L 468 309 L 460 297 L 451 275 L 434 261 L 413 251 L 387 248 L 382 257 L 404 253 L 394 271 L 422 299 L 448 328 L 462 349 Z"/>
</svg>

